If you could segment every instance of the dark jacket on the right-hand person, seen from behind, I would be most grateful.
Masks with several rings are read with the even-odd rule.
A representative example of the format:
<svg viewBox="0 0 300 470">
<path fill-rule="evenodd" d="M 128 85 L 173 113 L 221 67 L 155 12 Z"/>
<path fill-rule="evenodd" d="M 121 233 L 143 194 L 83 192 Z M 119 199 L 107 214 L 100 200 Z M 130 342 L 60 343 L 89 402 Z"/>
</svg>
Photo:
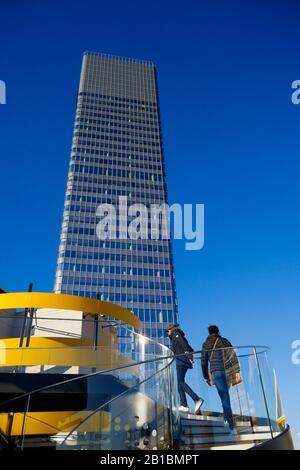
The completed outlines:
<svg viewBox="0 0 300 470">
<path fill-rule="evenodd" d="M 216 339 L 219 338 L 216 348 L 212 354 Z M 221 348 L 232 348 L 232 344 L 228 339 L 223 338 L 220 335 L 213 334 L 206 338 L 206 341 L 202 345 L 201 354 L 201 366 L 202 373 L 205 380 L 209 378 L 208 368 L 211 372 L 224 371 L 226 366 L 235 366 L 237 372 L 239 372 L 239 362 L 234 352 L 234 349 L 221 349 Z"/>
</svg>

